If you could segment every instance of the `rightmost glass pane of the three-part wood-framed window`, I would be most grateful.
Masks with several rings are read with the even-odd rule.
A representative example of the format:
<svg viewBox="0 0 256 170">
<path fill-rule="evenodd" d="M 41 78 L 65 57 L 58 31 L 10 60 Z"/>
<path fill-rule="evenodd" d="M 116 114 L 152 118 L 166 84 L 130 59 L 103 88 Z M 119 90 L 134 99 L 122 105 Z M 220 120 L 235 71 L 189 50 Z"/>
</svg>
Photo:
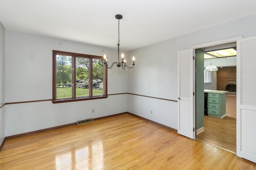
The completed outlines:
<svg viewBox="0 0 256 170">
<path fill-rule="evenodd" d="M 92 59 L 92 96 L 103 95 L 103 60 Z"/>
</svg>

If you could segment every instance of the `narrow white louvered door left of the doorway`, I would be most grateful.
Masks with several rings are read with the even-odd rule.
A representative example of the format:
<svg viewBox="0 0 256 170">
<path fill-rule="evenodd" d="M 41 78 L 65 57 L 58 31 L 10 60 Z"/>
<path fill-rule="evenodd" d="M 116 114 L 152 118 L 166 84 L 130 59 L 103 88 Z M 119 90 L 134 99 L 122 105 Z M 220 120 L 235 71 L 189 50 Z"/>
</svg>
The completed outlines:
<svg viewBox="0 0 256 170">
<path fill-rule="evenodd" d="M 193 49 L 178 51 L 178 133 L 195 139 Z"/>
</svg>

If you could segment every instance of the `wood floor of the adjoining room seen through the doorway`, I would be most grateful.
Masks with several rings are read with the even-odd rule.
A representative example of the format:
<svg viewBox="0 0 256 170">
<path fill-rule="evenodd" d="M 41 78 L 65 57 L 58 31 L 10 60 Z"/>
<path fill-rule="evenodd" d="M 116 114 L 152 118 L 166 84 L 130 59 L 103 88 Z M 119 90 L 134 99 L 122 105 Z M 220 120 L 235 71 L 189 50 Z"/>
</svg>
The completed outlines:
<svg viewBox="0 0 256 170">
<path fill-rule="evenodd" d="M 223 119 L 204 116 L 204 131 L 196 138 L 236 152 L 236 96 L 226 95 L 226 117 Z"/>
</svg>

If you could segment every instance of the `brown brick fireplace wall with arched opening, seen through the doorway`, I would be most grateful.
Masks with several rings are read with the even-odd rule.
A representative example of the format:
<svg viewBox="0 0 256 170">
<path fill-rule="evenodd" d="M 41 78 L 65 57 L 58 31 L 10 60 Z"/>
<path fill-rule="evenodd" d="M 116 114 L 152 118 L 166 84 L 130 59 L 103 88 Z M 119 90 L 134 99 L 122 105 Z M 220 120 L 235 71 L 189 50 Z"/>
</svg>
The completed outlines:
<svg viewBox="0 0 256 170">
<path fill-rule="evenodd" d="M 217 90 L 236 92 L 236 66 L 218 68 Z"/>
</svg>

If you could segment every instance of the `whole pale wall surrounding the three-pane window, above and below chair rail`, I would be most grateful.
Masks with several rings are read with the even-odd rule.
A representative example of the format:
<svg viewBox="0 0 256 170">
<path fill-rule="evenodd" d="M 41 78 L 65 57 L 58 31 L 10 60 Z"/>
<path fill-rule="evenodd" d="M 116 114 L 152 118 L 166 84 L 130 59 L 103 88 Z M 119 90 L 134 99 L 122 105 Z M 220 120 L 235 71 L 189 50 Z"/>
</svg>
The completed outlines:
<svg viewBox="0 0 256 170">
<path fill-rule="evenodd" d="M 106 53 L 109 63 L 117 56 L 114 49 L 6 30 L 6 103 L 52 99 L 52 50 L 89 55 Z M 117 67 L 108 70 L 108 94 L 126 93 L 126 84 L 126 70 Z M 92 109 L 95 113 L 91 113 Z M 10 136 L 125 112 L 127 94 L 64 104 L 51 101 L 8 104 L 5 111 L 5 135 Z"/>
</svg>

